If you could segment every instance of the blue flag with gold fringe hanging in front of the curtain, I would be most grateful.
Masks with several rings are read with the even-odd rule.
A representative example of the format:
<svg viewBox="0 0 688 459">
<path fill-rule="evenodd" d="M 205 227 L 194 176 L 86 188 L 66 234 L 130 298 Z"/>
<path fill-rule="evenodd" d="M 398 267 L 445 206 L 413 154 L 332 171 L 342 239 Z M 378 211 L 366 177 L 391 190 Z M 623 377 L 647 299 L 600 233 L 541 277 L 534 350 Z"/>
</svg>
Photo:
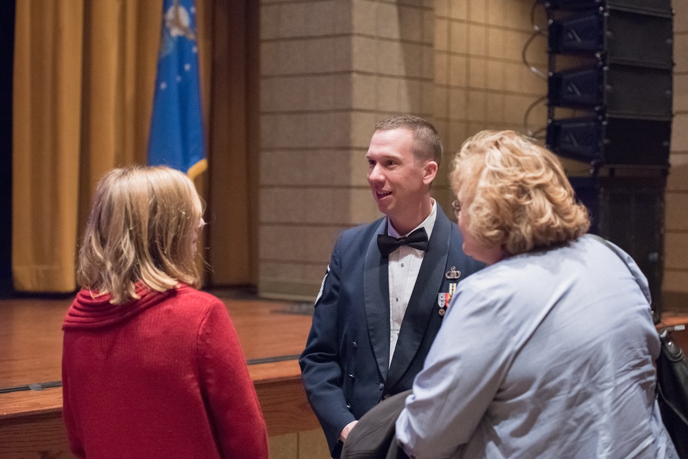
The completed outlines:
<svg viewBox="0 0 688 459">
<path fill-rule="evenodd" d="M 148 164 L 194 178 L 208 167 L 203 142 L 194 0 L 164 0 Z"/>
</svg>

